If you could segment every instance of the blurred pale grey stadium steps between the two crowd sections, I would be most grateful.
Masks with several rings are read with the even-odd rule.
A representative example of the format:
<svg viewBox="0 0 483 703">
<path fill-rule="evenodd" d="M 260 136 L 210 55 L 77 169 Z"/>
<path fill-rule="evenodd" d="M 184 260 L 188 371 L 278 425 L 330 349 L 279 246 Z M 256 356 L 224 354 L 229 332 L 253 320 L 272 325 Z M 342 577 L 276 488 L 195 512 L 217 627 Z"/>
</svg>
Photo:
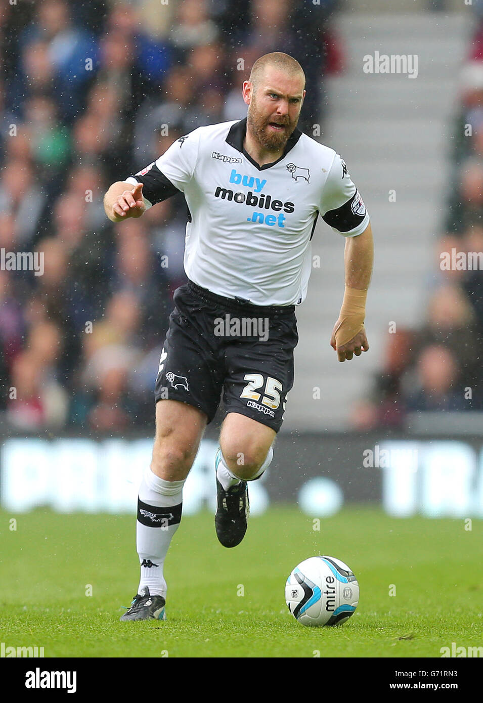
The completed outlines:
<svg viewBox="0 0 483 703">
<path fill-rule="evenodd" d="M 410 5 L 415 6 L 412 0 Z M 347 427 L 385 365 L 389 322 L 414 326 L 425 317 L 437 276 L 436 236 L 446 215 L 458 76 L 471 14 L 351 11 L 335 22 L 347 71 L 326 80 L 321 141 L 347 161 L 371 214 L 376 245 L 366 321 L 371 350 L 339 363 L 328 344 L 344 292 L 344 239 L 319 220 L 312 254 L 320 257 L 320 268 L 312 270 L 307 299 L 297 308 L 296 380 L 282 431 Z M 363 56 L 375 50 L 416 54 L 418 77 L 365 74 Z M 389 202 L 391 189 L 396 202 Z M 320 400 L 312 397 L 315 387 Z"/>
</svg>

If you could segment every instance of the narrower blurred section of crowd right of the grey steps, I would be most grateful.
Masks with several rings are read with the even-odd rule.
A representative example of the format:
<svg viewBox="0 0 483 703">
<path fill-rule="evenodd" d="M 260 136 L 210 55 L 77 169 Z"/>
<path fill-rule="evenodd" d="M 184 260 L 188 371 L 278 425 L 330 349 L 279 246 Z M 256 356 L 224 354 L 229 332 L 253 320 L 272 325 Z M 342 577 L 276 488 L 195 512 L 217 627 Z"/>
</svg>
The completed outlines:
<svg viewBox="0 0 483 703">
<path fill-rule="evenodd" d="M 387 335 L 385 368 L 353 418 L 360 430 L 405 427 L 412 411 L 483 411 L 483 2 L 473 9 L 425 323 Z"/>
</svg>

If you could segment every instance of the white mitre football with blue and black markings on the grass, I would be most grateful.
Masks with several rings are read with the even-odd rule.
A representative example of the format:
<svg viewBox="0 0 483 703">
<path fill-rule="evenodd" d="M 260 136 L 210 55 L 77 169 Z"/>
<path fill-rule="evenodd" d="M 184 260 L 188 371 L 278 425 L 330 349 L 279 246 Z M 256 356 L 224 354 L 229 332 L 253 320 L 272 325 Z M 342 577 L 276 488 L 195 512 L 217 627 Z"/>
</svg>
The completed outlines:
<svg viewBox="0 0 483 703">
<path fill-rule="evenodd" d="M 359 583 L 340 559 L 310 557 L 288 577 L 285 601 L 302 625 L 340 625 L 356 610 Z"/>
</svg>

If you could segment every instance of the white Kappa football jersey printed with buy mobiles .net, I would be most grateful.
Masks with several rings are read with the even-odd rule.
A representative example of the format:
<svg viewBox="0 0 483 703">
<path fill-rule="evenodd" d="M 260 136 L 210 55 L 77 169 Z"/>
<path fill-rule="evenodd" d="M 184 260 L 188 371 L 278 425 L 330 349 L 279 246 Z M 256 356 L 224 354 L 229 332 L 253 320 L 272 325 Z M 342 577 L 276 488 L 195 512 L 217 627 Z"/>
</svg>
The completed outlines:
<svg viewBox="0 0 483 703">
<path fill-rule="evenodd" d="M 147 207 L 181 191 L 188 205 L 184 269 L 193 283 L 256 305 L 300 304 L 318 215 L 343 236 L 369 222 L 347 167 L 300 129 L 262 167 L 243 148 L 247 120 L 198 127 L 125 181 Z"/>
</svg>

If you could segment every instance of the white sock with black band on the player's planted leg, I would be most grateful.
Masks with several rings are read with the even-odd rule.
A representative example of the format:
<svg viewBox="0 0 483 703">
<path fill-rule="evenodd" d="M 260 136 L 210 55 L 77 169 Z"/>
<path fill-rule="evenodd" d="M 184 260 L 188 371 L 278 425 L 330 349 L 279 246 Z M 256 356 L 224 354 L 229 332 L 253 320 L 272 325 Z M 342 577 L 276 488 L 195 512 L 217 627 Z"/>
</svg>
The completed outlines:
<svg viewBox="0 0 483 703">
<path fill-rule="evenodd" d="M 165 481 L 146 469 L 139 486 L 136 548 L 141 565 L 141 588 L 166 597 L 163 567 L 169 543 L 179 527 L 184 481 Z"/>
</svg>

